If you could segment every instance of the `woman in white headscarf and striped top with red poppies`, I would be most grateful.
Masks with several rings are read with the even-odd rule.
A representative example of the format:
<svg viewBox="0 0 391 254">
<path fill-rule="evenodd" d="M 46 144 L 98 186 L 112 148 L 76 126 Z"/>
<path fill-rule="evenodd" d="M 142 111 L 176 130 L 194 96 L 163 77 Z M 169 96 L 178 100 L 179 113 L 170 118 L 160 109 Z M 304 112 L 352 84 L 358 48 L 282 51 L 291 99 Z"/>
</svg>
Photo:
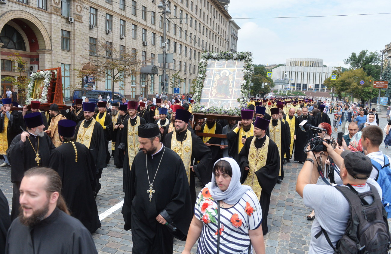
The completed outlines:
<svg viewBox="0 0 391 254">
<path fill-rule="evenodd" d="M 239 165 L 222 158 L 213 166 L 212 181 L 195 202 L 194 217 L 187 234 L 185 250 L 190 254 L 198 241 L 197 253 L 265 253 L 262 211 L 253 190 L 240 184 Z"/>
</svg>

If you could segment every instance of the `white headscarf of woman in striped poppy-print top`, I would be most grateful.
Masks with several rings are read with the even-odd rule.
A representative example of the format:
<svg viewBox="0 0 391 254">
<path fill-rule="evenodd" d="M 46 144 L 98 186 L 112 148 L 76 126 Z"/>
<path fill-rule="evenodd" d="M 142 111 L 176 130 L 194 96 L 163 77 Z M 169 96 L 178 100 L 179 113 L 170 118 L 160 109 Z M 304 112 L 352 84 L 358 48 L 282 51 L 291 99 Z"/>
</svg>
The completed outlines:
<svg viewBox="0 0 391 254">
<path fill-rule="evenodd" d="M 228 188 L 225 191 L 220 190 L 220 188 L 216 184 L 215 172 L 212 171 L 212 181 L 206 184 L 206 187 L 209 189 L 210 195 L 212 195 L 213 199 L 216 201 L 224 201 L 227 204 L 236 204 L 239 199 L 243 197 L 243 194 L 247 190 L 251 190 L 251 187 L 248 185 L 240 184 L 240 169 L 238 163 L 233 158 L 221 158 L 220 160 L 225 160 L 230 163 L 232 168 L 232 177 L 231 182 Z M 218 160 L 217 162 L 219 162 Z M 213 165 L 216 165 L 216 163 Z"/>
</svg>

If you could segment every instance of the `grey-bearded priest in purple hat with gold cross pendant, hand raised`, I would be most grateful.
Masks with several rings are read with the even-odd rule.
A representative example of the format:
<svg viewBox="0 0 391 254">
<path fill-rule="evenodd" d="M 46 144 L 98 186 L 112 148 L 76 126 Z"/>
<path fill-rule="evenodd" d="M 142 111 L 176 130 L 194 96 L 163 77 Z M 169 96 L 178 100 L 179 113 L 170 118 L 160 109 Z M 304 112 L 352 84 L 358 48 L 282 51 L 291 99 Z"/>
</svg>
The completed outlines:
<svg viewBox="0 0 391 254">
<path fill-rule="evenodd" d="M 32 167 L 49 165 L 49 158 L 56 148 L 50 137 L 43 132 L 42 116 L 34 112 L 24 117 L 27 131 L 17 135 L 7 149 L 7 157 L 11 163 L 11 182 L 13 186 L 11 220 L 19 214 L 19 187 L 24 172 Z"/>
</svg>

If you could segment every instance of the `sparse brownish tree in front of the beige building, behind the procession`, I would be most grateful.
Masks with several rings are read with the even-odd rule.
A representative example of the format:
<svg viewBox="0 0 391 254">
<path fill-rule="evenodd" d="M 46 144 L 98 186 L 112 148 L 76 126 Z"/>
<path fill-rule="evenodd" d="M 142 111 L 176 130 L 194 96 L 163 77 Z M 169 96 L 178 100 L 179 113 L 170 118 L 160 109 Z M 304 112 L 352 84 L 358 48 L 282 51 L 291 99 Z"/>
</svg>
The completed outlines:
<svg viewBox="0 0 391 254">
<path fill-rule="evenodd" d="M 90 69 L 74 69 L 77 78 L 93 76 L 96 81 L 104 81 L 106 78 L 111 79 L 111 91 L 114 92 L 116 82 L 122 82 L 125 85 L 127 77 L 140 74 L 140 68 L 149 60 L 137 59 L 137 53 L 128 53 L 126 50 L 117 50 L 112 44 L 99 41 L 96 48 L 88 50 L 89 55 L 83 55 L 86 60 L 84 64 L 90 64 Z M 83 65 L 84 65 L 83 64 Z M 149 91 L 148 82 L 145 91 Z M 122 88 L 124 89 L 124 87 Z"/>
</svg>

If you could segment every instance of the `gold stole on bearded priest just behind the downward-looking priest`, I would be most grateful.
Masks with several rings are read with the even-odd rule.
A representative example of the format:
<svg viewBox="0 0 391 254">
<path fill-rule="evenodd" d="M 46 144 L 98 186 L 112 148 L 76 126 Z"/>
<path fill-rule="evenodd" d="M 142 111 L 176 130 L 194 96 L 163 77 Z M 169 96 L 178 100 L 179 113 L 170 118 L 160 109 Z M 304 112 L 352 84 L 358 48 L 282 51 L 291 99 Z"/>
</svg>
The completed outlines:
<svg viewBox="0 0 391 254">
<path fill-rule="evenodd" d="M 176 131 L 172 133 L 171 139 L 171 149 L 178 153 L 181 157 L 183 164 L 185 165 L 186 175 L 188 182 L 190 184 L 190 165 L 192 160 L 192 133 L 189 130 L 186 130 L 186 139 L 182 142 L 176 140 Z"/>
</svg>

